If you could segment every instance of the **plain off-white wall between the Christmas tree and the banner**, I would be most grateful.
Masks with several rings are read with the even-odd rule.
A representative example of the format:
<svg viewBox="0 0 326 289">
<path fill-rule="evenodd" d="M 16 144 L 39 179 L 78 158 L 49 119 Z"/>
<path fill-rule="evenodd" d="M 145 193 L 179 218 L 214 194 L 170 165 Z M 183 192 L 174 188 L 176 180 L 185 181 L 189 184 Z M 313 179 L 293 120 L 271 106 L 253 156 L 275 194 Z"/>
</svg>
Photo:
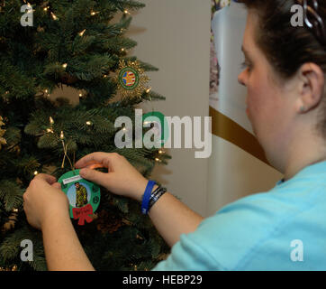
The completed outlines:
<svg viewBox="0 0 326 289">
<path fill-rule="evenodd" d="M 133 13 L 128 37 L 138 42 L 131 51 L 158 67 L 149 72 L 154 91 L 166 101 L 143 109 L 167 117 L 208 116 L 210 64 L 210 0 L 141 0 L 146 7 Z M 203 119 L 204 121 L 204 119 Z M 152 177 L 162 182 L 191 209 L 206 215 L 207 159 L 195 159 L 194 149 L 167 149 L 172 160 L 158 165 Z"/>
</svg>

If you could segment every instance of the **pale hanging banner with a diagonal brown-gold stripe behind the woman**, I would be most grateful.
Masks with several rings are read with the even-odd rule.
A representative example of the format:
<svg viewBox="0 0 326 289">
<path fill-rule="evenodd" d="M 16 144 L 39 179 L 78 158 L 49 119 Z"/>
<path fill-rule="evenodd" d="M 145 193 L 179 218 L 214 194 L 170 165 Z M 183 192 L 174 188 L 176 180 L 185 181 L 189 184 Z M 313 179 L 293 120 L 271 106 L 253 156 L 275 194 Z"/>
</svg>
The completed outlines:
<svg viewBox="0 0 326 289">
<path fill-rule="evenodd" d="M 245 5 L 212 0 L 210 117 L 213 153 L 209 160 L 209 213 L 233 200 L 268 191 L 281 179 L 267 161 L 246 114 L 247 89 L 238 82 L 244 56 Z"/>
</svg>

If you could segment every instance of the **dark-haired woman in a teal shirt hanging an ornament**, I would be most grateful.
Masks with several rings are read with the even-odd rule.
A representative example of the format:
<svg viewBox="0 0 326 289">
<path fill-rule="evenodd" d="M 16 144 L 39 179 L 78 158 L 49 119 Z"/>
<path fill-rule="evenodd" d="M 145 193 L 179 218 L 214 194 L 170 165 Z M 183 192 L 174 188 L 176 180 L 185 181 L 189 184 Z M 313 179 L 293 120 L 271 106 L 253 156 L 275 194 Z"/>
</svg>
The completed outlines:
<svg viewBox="0 0 326 289">
<path fill-rule="evenodd" d="M 308 10 L 304 5 L 306 23 L 293 27 L 294 1 L 241 2 L 249 15 L 239 82 L 248 89 L 255 135 L 285 177 L 272 190 L 237 200 L 208 219 L 163 194 L 149 218 L 172 253 L 156 270 L 326 269 L 326 3 L 312 1 Z M 320 22 L 309 28 L 316 15 Z M 119 154 L 89 154 L 76 167 L 86 180 L 135 200 L 142 200 L 148 185 Z M 93 270 L 55 178 L 36 176 L 23 199 L 28 221 L 42 230 L 49 269 Z"/>
</svg>

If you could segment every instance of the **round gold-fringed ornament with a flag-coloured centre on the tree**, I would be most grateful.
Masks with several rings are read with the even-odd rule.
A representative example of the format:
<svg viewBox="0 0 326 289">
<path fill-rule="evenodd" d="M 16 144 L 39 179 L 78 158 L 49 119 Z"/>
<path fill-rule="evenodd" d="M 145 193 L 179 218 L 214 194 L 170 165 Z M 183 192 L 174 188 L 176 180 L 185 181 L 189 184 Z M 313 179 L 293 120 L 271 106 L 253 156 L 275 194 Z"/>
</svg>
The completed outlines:
<svg viewBox="0 0 326 289">
<path fill-rule="evenodd" d="M 119 61 L 119 69 L 114 78 L 118 86 L 118 94 L 123 98 L 136 98 L 147 90 L 149 77 L 140 68 L 139 61 Z"/>
</svg>

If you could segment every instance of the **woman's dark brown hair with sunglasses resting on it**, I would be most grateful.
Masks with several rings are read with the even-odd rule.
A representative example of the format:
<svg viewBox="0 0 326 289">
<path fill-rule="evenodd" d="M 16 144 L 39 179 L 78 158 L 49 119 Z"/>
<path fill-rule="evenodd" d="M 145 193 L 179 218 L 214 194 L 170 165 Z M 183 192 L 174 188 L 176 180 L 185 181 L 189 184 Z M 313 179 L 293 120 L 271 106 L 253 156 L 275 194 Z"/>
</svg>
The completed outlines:
<svg viewBox="0 0 326 289">
<path fill-rule="evenodd" d="M 318 4 L 318 11 L 324 26 L 326 26 L 326 1 L 314 0 Z M 314 1 L 305 1 L 312 5 Z M 291 19 L 293 5 L 303 1 L 294 0 L 240 0 L 249 9 L 258 13 L 258 29 L 254 35 L 255 41 L 267 57 L 267 61 L 276 70 L 279 79 L 286 80 L 306 62 L 313 62 L 321 67 L 326 74 L 326 39 L 322 42 L 317 37 L 316 29 L 303 26 L 294 27 Z M 326 85 L 326 83 L 325 83 Z M 326 93 L 326 91 L 324 91 Z M 326 139 L 326 96 L 323 98 L 321 109 L 322 119 L 318 121 L 318 128 Z"/>
</svg>

